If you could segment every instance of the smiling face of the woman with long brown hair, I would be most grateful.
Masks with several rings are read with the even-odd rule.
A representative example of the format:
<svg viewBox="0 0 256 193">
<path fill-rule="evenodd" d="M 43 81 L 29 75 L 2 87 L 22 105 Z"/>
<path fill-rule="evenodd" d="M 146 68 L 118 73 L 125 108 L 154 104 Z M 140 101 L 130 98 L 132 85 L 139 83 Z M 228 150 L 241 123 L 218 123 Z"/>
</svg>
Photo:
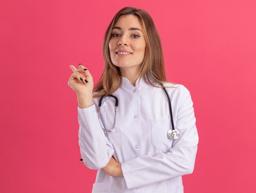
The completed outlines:
<svg viewBox="0 0 256 193">
<path fill-rule="evenodd" d="M 121 72 L 139 72 L 146 48 L 139 19 L 133 15 L 121 16 L 112 30 L 108 47 L 112 63 Z"/>
</svg>

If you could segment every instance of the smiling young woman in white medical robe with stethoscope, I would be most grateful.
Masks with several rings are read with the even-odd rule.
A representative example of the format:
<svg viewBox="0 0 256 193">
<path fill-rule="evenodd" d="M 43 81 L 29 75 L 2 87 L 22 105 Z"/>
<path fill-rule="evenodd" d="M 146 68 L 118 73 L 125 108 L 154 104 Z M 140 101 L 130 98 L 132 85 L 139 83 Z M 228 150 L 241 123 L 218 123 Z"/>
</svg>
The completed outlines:
<svg viewBox="0 0 256 193">
<path fill-rule="evenodd" d="M 183 85 L 166 81 L 150 15 L 121 9 L 106 31 L 103 56 L 95 87 L 81 64 L 70 66 L 68 81 L 79 104 L 83 163 L 98 170 L 92 192 L 182 193 L 182 175 L 193 172 L 198 144 L 193 102 Z M 107 94 L 117 97 L 118 111 L 115 97 L 106 96 L 99 113 Z"/>
</svg>

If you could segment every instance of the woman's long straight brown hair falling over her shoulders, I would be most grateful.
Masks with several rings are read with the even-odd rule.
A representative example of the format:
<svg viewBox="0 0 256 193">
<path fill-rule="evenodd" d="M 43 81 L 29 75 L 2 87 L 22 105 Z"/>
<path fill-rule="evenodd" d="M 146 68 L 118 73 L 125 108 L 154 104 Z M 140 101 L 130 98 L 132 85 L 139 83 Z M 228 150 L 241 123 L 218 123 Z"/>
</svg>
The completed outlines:
<svg viewBox="0 0 256 193">
<path fill-rule="evenodd" d="M 111 61 L 108 44 L 113 27 L 118 18 L 128 14 L 137 16 L 142 26 L 142 32 L 146 41 L 145 55 L 139 72 L 139 81 L 141 78 L 144 78 L 148 84 L 155 87 L 161 87 L 157 86 L 155 83 L 167 82 L 162 44 L 153 19 L 144 9 L 124 7 L 117 12 L 110 22 L 103 39 L 103 58 L 105 66 L 98 83 L 94 86 L 94 92 L 100 91 L 93 96 L 94 98 L 105 94 L 112 94 L 121 84 L 121 72 L 119 67 L 115 66 Z"/>
</svg>

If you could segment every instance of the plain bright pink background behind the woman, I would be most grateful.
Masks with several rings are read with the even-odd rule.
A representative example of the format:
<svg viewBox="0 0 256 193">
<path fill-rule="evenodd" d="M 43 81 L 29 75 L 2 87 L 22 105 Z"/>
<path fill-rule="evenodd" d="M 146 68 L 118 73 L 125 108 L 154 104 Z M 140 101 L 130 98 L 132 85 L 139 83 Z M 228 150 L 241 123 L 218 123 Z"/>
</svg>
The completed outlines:
<svg viewBox="0 0 256 193">
<path fill-rule="evenodd" d="M 126 6 L 152 16 L 168 80 L 191 92 L 199 144 L 184 191 L 255 192 L 255 0 L 1 0 L 0 192 L 92 190 L 69 65 L 98 81 L 103 35 Z"/>
</svg>

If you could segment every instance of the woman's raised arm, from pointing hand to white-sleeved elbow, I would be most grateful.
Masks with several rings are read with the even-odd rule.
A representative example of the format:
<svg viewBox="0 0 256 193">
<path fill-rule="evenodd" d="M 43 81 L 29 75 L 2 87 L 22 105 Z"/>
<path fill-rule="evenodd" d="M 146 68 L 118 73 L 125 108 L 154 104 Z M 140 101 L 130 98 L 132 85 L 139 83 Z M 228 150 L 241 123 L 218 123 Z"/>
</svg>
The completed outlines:
<svg viewBox="0 0 256 193">
<path fill-rule="evenodd" d="M 78 121 L 79 121 L 79 146 L 84 164 L 91 169 L 100 169 L 108 164 L 114 153 L 114 148 L 101 129 L 97 106 L 93 105 L 92 90 L 93 78 L 89 70 L 79 64 L 68 80 L 68 86 L 77 94 Z"/>
</svg>

